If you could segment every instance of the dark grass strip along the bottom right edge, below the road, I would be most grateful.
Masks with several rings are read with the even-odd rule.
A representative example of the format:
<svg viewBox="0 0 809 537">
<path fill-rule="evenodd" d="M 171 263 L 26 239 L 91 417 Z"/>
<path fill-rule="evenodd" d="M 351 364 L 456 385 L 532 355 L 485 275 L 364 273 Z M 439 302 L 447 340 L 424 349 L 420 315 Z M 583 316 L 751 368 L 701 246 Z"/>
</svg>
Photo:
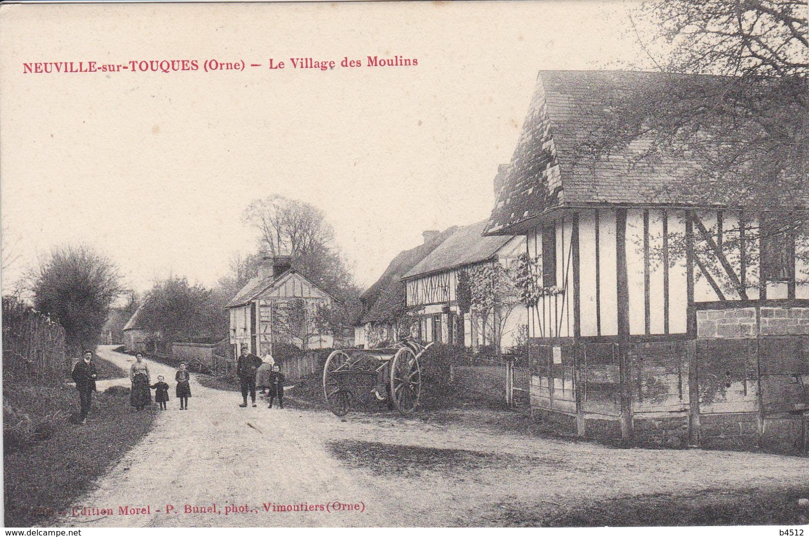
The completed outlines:
<svg viewBox="0 0 809 537">
<path fill-rule="evenodd" d="M 498 504 L 496 514 L 485 520 L 459 523 L 506 527 L 793 526 L 807 523 L 809 511 L 798 506 L 798 498 L 807 496 L 809 486 L 650 494 L 575 506 Z"/>
</svg>

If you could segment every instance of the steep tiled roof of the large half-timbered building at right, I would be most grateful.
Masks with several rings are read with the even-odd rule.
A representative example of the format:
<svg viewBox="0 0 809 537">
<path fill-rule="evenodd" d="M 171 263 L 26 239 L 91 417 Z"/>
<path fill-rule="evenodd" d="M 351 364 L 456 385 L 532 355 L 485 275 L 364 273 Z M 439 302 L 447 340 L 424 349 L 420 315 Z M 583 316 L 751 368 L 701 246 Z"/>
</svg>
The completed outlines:
<svg viewBox="0 0 809 537">
<path fill-rule="evenodd" d="M 640 139 L 598 157 L 587 148 L 608 118 L 631 107 L 644 92 L 671 83 L 698 88 L 708 80 L 664 73 L 540 71 L 505 187 L 485 233 L 502 232 L 565 206 L 694 204 L 684 189 L 666 188 L 691 177 L 697 168 L 693 157 L 656 155 L 652 164 L 642 159 L 649 141 Z"/>
</svg>

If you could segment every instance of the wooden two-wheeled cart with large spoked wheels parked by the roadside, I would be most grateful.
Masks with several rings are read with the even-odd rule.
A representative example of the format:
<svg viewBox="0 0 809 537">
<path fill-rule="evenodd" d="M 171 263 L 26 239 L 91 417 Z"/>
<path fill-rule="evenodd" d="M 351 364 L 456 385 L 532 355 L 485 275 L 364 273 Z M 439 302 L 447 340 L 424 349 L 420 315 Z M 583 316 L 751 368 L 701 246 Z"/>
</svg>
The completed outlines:
<svg viewBox="0 0 809 537">
<path fill-rule="evenodd" d="M 323 393 L 328 408 L 337 416 L 348 413 L 352 401 L 362 401 L 368 380 L 386 384 L 388 408 L 400 413 L 415 412 L 421 395 L 419 359 L 433 343 L 421 345 L 405 338 L 381 349 L 335 350 L 323 368 Z M 373 391 L 371 391 L 373 392 Z"/>
</svg>

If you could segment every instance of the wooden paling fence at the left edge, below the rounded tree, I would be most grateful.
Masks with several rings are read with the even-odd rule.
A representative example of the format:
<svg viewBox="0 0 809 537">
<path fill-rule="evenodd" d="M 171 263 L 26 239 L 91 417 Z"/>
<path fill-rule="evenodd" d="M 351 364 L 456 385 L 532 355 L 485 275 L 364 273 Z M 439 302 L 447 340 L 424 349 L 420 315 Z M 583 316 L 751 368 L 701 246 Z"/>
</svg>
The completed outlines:
<svg viewBox="0 0 809 537">
<path fill-rule="evenodd" d="M 14 299 L 2 300 L 2 379 L 59 384 L 80 349 L 66 344 L 65 329 Z"/>
</svg>

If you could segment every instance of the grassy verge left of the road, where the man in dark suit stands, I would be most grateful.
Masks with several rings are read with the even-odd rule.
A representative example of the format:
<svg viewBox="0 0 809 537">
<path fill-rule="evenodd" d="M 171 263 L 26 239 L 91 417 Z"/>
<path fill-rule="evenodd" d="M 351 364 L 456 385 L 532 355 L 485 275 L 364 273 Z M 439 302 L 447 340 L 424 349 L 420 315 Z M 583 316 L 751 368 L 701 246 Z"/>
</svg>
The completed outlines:
<svg viewBox="0 0 809 537">
<path fill-rule="evenodd" d="M 111 390 L 94 397 L 87 425 L 78 426 L 71 422 L 78 414 L 75 388 L 3 388 L 6 527 L 34 526 L 69 508 L 149 432 L 157 415 L 153 409 L 136 413 L 127 390 Z M 40 433 L 23 437 L 6 429 L 9 417 L 26 421 L 23 415 Z"/>
</svg>

